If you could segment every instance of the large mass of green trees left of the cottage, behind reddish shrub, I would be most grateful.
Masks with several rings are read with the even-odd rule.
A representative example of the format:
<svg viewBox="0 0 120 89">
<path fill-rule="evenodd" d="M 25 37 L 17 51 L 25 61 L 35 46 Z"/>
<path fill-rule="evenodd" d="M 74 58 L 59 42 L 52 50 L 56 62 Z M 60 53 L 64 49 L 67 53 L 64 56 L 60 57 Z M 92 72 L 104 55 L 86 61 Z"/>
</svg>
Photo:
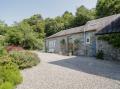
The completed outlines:
<svg viewBox="0 0 120 89">
<path fill-rule="evenodd" d="M 44 21 L 40 15 L 34 15 L 14 26 L 6 33 L 8 45 L 22 46 L 25 49 L 42 49 L 44 40 Z"/>
</svg>

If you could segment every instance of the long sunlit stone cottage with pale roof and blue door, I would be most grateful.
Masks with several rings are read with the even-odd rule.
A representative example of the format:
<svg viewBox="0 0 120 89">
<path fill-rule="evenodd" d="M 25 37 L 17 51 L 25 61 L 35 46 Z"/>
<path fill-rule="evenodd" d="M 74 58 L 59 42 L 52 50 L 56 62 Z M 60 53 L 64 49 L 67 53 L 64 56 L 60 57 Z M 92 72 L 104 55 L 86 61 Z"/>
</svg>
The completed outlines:
<svg viewBox="0 0 120 89">
<path fill-rule="evenodd" d="M 84 26 L 60 31 L 46 38 L 47 52 L 63 55 L 96 56 L 99 49 L 97 33 L 105 33 L 106 26 L 120 18 L 120 14 L 88 21 Z M 109 32 L 109 27 L 107 28 Z M 96 35 L 97 34 L 97 35 Z"/>
</svg>

